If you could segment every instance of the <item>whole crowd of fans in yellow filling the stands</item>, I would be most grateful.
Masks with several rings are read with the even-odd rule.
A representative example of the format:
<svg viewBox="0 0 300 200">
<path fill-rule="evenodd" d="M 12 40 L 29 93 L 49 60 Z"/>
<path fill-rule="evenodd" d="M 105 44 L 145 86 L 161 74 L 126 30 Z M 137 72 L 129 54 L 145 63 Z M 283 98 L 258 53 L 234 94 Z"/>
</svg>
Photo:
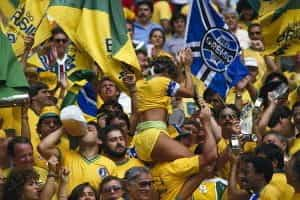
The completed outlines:
<svg viewBox="0 0 300 200">
<path fill-rule="evenodd" d="M 0 199 L 300 199 L 300 54 L 288 70 L 263 54 L 264 27 L 255 22 L 262 13 L 250 0 L 212 2 L 249 75 L 226 97 L 205 88 L 183 48 L 189 1 L 124 0 L 144 77 L 125 70 L 127 96 L 93 67 L 98 112 L 81 136 L 60 119 L 70 77 L 54 87 L 43 77 L 54 66 L 72 68 L 71 41 L 55 27 L 36 70 L 26 38 L 30 101 L 0 108 Z"/>
</svg>

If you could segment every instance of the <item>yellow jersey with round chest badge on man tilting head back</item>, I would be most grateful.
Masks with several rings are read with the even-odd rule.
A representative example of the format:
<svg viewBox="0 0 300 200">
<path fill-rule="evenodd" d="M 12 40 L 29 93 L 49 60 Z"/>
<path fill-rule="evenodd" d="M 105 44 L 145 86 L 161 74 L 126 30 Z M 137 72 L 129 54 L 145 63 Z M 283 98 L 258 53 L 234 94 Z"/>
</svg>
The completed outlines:
<svg viewBox="0 0 300 200">
<path fill-rule="evenodd" d="M 87 160 L 79 152 L 71 150 L 61 150 L 61 155 L 63 166 L 70 170 L 68 194 L 83 182 L 89 182 L 98 189 L 103 178 L 108 175 L 117 175 L 115 163 L 105 156 L 97 155 L 95 158 Z"/>
</svg>

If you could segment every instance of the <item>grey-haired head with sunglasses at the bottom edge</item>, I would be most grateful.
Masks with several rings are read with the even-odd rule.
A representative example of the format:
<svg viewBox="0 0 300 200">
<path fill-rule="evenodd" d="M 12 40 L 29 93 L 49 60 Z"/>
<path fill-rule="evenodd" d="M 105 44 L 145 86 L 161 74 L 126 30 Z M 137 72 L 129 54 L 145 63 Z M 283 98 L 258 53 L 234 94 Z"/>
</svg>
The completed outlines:
<svg viewBox="0 0 300 200">
<path fill-rule="evenodd" d="M 130 200 L 154 198 L 153 179 L 145 167 L 133 167 L 125 173 L 126 190 Z"/>
</svg>

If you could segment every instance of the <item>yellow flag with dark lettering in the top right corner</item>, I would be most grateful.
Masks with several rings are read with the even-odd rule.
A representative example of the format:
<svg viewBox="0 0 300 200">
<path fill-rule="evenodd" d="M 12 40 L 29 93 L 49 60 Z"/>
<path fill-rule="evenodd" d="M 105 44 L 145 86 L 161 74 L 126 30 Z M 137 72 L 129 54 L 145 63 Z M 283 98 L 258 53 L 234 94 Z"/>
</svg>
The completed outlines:
<svg viewBox="0 0 300 200">
<path fill-rule="evenodd" d="M 289 0 L 285 6 L 261 20 L 265 54 L 295 55 L 300 51 L 300 1 Z"/>
</svg>

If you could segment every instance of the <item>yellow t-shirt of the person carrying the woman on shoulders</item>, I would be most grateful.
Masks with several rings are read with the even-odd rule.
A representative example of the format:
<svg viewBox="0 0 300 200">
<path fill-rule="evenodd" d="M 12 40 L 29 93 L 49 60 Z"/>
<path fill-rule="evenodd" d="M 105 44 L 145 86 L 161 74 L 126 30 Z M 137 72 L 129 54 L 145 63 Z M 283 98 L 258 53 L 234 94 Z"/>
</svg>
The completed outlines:
<svg viewBox="0 0 300 200">
<path fill-rule="evenodd" d="M 174 200 L 184 182 L 199 172 L 199 157 L 181 158 L 173 162 L 159 163 L 152 168 L 151 175 L 161 200 Z"/>
</svg>

